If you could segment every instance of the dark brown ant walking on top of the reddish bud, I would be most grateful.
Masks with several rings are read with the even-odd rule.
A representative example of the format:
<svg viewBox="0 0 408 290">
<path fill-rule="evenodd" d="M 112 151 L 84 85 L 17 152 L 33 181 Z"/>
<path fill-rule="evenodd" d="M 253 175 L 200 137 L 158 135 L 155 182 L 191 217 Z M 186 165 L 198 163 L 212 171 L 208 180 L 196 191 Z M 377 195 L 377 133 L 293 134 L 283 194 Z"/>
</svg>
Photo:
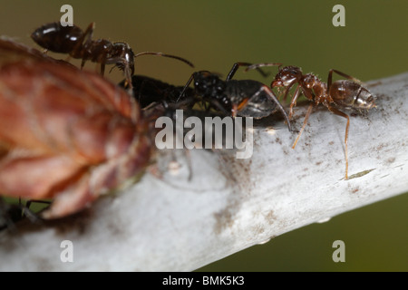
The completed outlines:
<svg viewBox="0 0 408 290">
<path fill-rule="evenodd" d="M 101 74 L 105 71 L 105 64 L 114 63 L 121 69 L 129 86 L 134 73 L 134 58 L 140 55 L 151 54 L 178 59 L 194 67 L 189 61 L 175 55 L 156 52 L 134 54 L 128 43 L 111 43 L 106 39 L 92 40 L 95 23 L 89 24 L 85 32 L 76 25 L 63 26 L 60 22 L 44 24 L 37 28 L 31 38 L 34 42 L 54 53 L 68 53 L 76 59 L 82 59 L 81 68 L 86 61 L 101 63 Z"/>
</svg>

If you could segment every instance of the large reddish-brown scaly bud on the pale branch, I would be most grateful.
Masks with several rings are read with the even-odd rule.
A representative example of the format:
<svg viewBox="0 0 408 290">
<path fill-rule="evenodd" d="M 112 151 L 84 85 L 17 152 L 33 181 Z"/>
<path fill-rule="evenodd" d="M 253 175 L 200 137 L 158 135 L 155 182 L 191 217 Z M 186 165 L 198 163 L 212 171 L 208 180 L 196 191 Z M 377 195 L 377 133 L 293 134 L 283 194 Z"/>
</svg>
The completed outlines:
<svg viewBox="0 0 408 290">
<path fill-rule="evenodd" d="M 18 59 L 9 45 L 0 54 Z M 34 55 L 0 63 L 0 193 L 52 198 L 43 217 L 63 218 L 142 173 L 149 124 L 100 74 Z"/>
</svg>

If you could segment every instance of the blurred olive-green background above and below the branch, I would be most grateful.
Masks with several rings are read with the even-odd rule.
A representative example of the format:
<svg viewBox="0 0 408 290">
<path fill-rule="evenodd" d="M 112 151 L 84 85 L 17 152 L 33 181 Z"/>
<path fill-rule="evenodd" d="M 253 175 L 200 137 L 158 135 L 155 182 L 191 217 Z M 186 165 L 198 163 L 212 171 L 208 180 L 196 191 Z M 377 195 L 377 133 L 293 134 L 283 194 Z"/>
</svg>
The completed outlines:
<svg viewBox="0 0 408 290">
<path fill-rule="evenodd" d="M 177 54 L 195 63 L 195 70 L 224 76 L 235 62 L 295 64 L 323 80 L 331 68 L 362 81 L 408 71 L 406 0 L 0 0 L 0 34 L 35 46 L 31 32 L 59 21 L 65 4 L 73 6 L 74 24 L 85 29 L 96 22 L 94 38 L 130 43 L 135 53 Z M 345 6 L 345 27 L 332 24 L 337 4 Z M 94 65 L 87 63 L 91 69 Z M 136 62 L 136 73 L 174 84 L 184 84 L 192 72 L 184 63 L 160 57 Z M 116 82 L 121 73 L 109 77 Z M 237 79 L 248 77 L 270 82 L 257 73 L 236 74 Z M 407 194 L 377 202 L 199 270 L 408 271 L 407 204 Z M 345 241 L 345 263 L 332 261 L 337 239 Z"/>
</svg>

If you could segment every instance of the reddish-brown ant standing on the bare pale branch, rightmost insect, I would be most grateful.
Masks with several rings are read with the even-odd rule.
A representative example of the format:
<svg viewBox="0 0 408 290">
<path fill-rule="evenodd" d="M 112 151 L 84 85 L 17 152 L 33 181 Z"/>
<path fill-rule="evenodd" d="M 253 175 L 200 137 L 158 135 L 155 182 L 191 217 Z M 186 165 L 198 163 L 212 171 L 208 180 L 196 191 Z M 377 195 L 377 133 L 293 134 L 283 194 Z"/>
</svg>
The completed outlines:
<svg viewBox="0 0 408 290">
<path fill-rule="evenodd" d="M 297 135 L 296 141 L 292 148 L 295 149 L 297 141 L 302 134 L 302 131 L 306 127 L 307 119 L 312 112 L 313 106 L 322 103 L 328 109 L 328 111 L 347 119 L 345 125 L 345 179 L 348 179 L 348 153 L 347 153 L 347 140 L 348 129 L 350 126 L 349 116 L 335 108 L 356 109 L 359 111 L 369 110 L 375 107 L 374 96 L 361 84 L 355 77 L 345 73 L 341 73 L 334 69 L 331 69 L 328 73 L 327 83 L 322 82 L 313 73 L 303 74 L 302 70 L 297 66 L 285 66 L 280 67 L 281 63 L 258 63 L 248 66 L 247 70 L 256 69 L 262 66 L 278 65 L 279 71 L 271 83 L 271 88 L 286 88 L 284 92 L 284 99 L 286 100 L 289 90 L 297 83 L 296 90 L 292 96 L 289 109 L 289 118 L 292 118 L 293 107 L 296 106 L 296 100 L 301 93 L 303 93 L 307 100 L 312 101 L 306 112 L 305 121 L 303 122 L 302 129 Z M 338 80 L 333 82 L 333 73 L 337 73 L 347 80 Z"/>
</svg>

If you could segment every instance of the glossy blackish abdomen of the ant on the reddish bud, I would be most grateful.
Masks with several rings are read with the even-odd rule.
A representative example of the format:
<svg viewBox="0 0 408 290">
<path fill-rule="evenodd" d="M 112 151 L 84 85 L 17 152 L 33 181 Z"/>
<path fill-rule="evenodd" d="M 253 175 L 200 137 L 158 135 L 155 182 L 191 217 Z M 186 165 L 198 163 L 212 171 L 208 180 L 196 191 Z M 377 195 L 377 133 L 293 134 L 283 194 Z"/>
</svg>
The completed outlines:
<svg viewBox="0 0 408 290">
<path fill-rule="evenodd" d="M 82 37 L 78 26 L 63 26 L 59 22 L 45 24 L 31 34 L 35 43 L 54 53 L 70 53 Z"/>
</svg>

